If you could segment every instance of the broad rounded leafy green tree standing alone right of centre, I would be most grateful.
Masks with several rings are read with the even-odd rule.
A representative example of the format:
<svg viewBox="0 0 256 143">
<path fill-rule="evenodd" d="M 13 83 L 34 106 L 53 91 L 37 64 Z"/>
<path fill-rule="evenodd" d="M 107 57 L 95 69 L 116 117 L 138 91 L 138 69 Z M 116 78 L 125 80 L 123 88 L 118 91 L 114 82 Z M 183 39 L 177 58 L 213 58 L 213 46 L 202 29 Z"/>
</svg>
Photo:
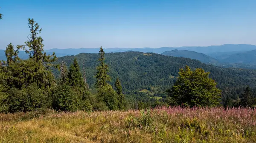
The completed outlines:
<svg viewBox="0 0 256 143">
<path fill-rule="evenodd" d="M 179 77 L 172 89 L 169 90 L 169 96 L 177 104 L 185 106 L 215 106 L 219 102 L 221 90 L 216 88 L 216 83 L 210 79 L 209 73 L 203 69 L 197 68 L 191 71 L 189 66 L 180 69 Z"/>
</svg>

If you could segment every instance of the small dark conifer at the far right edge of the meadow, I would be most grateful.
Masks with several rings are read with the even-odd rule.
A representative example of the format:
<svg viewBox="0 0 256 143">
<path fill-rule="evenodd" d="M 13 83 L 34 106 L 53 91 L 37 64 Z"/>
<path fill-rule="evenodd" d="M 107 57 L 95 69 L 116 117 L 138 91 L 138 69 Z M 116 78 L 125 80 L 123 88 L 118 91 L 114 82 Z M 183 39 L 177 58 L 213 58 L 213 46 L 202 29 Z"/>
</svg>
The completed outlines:
<svg viewBox="0 0 256 143">
<path fill-rule="evenodd" d="M 243 107 L 252 107 L 253 106 L 253 92 L 249 86 L 244 90 L 244 93 L 241 95 L 241 105 Z"/>
</svg>

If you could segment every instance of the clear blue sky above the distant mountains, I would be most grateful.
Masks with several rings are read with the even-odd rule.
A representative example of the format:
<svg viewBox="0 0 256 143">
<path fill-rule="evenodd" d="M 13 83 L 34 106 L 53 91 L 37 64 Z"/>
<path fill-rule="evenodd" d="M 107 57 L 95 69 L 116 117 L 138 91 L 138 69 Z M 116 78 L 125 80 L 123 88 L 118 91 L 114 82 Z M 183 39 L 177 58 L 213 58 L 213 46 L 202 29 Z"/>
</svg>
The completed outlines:
<svg viewBox="0 0 256 143">
<path fill-rule="evenodd" d="M 22 45 L 28 18 L 45 49 L 256 45 L 256 0 L 1 0 L 0 49 Z"/>
</svg>

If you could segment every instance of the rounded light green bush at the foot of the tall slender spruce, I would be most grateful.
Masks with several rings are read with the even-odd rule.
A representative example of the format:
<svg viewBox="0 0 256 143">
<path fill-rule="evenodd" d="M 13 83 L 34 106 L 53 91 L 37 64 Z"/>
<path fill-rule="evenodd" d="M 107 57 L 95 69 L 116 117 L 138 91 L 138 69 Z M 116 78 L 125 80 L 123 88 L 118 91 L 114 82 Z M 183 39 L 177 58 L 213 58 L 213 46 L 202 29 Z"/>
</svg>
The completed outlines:
<svg viewBox="0 0 256 143">
<path fill-rule="evenodd" d="M 107 84 L 102 88 L 98 88 L 97 97 L 99 101 L 102 101 L 110 110 L 118 110 L 117 93 L 111 85 Z"/>
</svg>

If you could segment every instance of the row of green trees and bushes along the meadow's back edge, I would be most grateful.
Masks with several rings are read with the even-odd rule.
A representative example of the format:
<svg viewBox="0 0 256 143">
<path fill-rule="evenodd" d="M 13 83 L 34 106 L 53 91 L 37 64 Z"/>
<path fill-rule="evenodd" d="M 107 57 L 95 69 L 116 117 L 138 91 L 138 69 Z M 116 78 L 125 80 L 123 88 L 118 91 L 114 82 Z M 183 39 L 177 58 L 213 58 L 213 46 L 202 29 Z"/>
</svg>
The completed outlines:
<svg viewBox="0 0 256 143">
<path fill-rule="evenodd" d="M 105 63 L 105 52 L 102 47 L 99 50 L 98 66 L 94 76 L 96 90 L 93 91 L 87 83 L 85 67 L 81 70 L 76 58 L 69 68 L 65 62 L 55 64 L 55 53 L 47 55 L 44 52 L 44 40 L 39 36 L 42 31 L 40 25 L 34 19 L 28 19 L 28 25 L 28 41 L 23 45 L 17 45 L 16 50 L 12 43 L 7 45 L 7 60 L 0 62 L 0 112 L 29 112 L 49 108 L 90 112 L 169 105 L 221 106 L 221 90 L 216 87 L 217 83 L 209 78 L 210 73 L 202 68 L 193 71 L 189 66 L 180 69 L 174 85 L 166 91 L 168 95 L 161 100 L 143 98 L 143 93 L 125 96 L 119 78 L 116 78 L 114 86 L 110 84 L 110 69 Z M 21 49 L 25 50 L 29 59 L 22 60 L 18 57 Z M 57 80 L 52 68 L 60 70 Z M 254 101 L 252 91 L 247 87 L 241 98 L 234 101 L 227 96 L 223 105 L 253 107 Z"/>
</svg>

